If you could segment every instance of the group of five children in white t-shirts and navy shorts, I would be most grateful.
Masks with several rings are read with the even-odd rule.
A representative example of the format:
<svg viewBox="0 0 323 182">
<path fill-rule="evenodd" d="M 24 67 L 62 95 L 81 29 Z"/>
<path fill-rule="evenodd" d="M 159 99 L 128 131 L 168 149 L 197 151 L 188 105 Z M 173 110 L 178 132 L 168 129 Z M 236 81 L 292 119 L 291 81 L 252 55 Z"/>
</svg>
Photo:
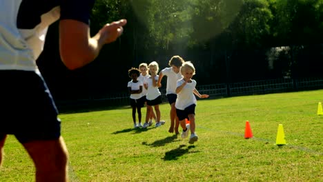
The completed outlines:
<svg viewBox="0 0 323 182">
<path fill-rule="evenodd" d="M 158 73 L 159 65 L 153 61 L 147 65 L 141 63 L 139 69 L 131 68 L 128 70 L 129 77 L 132 79 L 128 82 L 130 92 L 130 105 L 133 108 L 134 127 L 147 128 L 153 124 L 155 127 L 163 125 L 165 122 L 160 121 L 159 104 L 161 104 L 161 79 L 166 76 L 166 97 L 170 104 L 170 128 L 168 132 L 179 134 L 178 128 L 181 125 L 182 139 L 188 136 L 190 130 L 190 139 L 188 143 L 193 144 L 198 140 L 195 134 L 195 106 L 199 98 L 208 98 L 207 94 L 199 94 L 196 90 L 196 81 L 192 79 L 195 74 L 195 67 L 190 61 L 184 61 L 182 57 L 173 56 L 168 62 L 169 68 L 164 68 Z M 149 72 L 149 74 L 148 74 Z M 194 95 L 195 94 L 195 95 Z M 146 121 L 141 125 L 141 108 L 146 103 Z M 153 112 L 153 106 L 156 114 Z M 136 122 L 136 110 L 138 113 L 139 125 Z M 186 123 L 186 120 L 190 121 Z"/>
</svg>

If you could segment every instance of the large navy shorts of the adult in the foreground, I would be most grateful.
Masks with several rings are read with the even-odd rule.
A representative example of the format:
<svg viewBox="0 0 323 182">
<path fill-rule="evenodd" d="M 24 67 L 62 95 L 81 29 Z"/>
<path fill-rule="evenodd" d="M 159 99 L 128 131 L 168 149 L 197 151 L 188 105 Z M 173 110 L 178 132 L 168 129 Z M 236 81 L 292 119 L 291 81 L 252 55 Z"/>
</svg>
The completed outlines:
<svg viewBox="0 0 323 182">
<path fill-rule="evenodd" d="M 14 134 L 20 143 L 59 139 L 61 121 L 41 75 L 0 70 L 0 138 Z"/>
</svg>

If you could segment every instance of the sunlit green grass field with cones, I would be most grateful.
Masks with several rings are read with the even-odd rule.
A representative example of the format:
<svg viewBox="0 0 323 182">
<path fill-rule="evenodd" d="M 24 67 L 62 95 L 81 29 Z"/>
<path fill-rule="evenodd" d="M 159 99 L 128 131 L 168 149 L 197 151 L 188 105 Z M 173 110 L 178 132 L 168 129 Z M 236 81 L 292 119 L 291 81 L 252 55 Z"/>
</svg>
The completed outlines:
<svg viewBox="0 0 323 182">
<path fill-rule="evenodd" d="M 168 103 L 160 105 L 166 124 L 146 130 L 133 129 L 129 107 L 60 114 L 70 181 L 323 181 L 319 102 L 323 90 L 199 100 L 194 145 L 168 133 Z M 251 139 L 244 139 L 246 121 Z M 5 153 L 0 181 L 34 181 L 14 136 Z"/>
</svg>

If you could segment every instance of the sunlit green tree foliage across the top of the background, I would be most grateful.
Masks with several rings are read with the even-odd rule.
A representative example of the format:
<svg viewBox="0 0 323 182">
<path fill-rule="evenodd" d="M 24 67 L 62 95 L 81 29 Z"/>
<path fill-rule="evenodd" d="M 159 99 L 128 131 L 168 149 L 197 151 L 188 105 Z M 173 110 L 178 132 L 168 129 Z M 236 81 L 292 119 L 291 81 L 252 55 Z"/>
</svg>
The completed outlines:
<svg viewBox="0 0 323 182">
<path fill-rule="evenodd" d="M 322 41 L 323 0 L 99 0 L 92 24 L 127 18 L 134 43 L 146 49 L 192 48 L 226 34 L 226 43 L 260 47 Z M 144 26 L 140 26 L 138 23 Z M 137 45 L 135 45 L 136 48 Z"/>
</svg>

